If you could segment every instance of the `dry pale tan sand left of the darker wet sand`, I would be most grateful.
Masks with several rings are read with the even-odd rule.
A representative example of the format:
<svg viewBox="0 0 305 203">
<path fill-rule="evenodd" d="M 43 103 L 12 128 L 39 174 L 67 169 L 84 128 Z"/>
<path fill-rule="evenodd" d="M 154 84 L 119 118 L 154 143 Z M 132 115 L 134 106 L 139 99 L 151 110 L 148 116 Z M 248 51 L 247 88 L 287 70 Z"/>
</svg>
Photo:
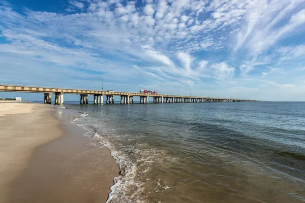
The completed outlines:
<svg viewBox="0 0 305 203">
<path fill-rule="evenodd" d="M 51 113 L 50 108 L 38 104 L 0 104 L 0 202 L 8 194 L 8 184 L 27 166 L 35 147 L 62 135 L 59 121 Z M 54 133 L 45 133 L 47 130 Z"/>
</svg>

